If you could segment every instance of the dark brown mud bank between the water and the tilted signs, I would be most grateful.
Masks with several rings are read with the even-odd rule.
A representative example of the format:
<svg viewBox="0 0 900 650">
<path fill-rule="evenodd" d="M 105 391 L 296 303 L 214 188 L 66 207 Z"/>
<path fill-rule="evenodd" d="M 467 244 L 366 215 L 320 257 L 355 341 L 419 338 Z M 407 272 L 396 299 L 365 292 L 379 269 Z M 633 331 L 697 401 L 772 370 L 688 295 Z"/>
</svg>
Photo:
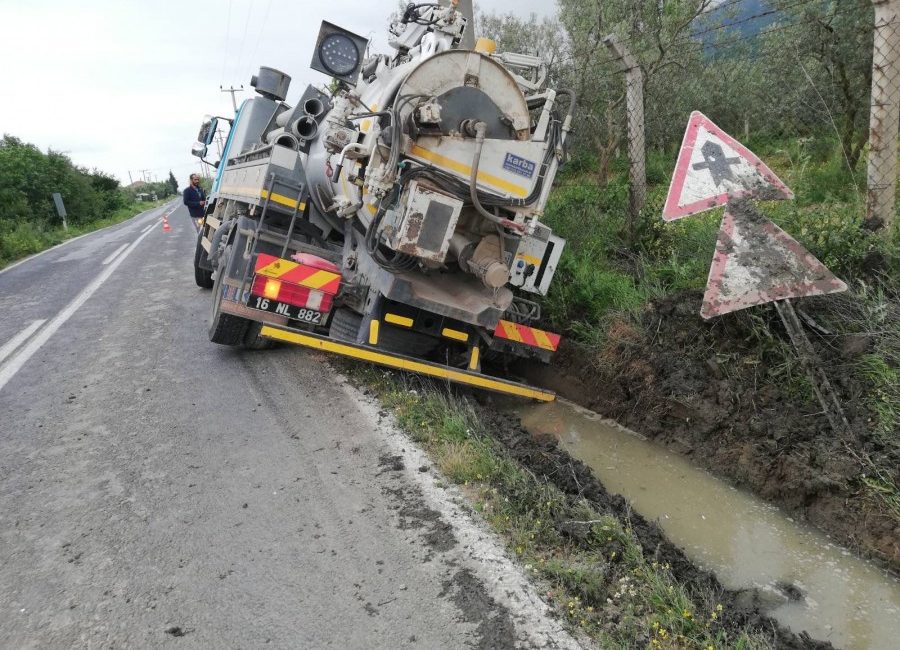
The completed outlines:
<svg viewBox="0 0 900 650">
<path fill-rule="evenodd" d="M 900 482 L 900 459 L 870 431 L 863 387 L 846 372 L 866 341 L 819 346 L 851 423 L 842 437 L 814 400 L 790 394 L 790 378 L 764 381 L 766 364 L 783 361 L 760 352 L 759 322 L 740 313 L 704 321 L 700 299 L 689 292 L 658 301 L 640 329 L 613 323 L 599 351 L 564 340 L 550 366 L 514 371 L 900 572 L 900 524 L 862 480 L 877 466 Z M 765 327 L 778 331 L 774 312 Z"/>
</svg>

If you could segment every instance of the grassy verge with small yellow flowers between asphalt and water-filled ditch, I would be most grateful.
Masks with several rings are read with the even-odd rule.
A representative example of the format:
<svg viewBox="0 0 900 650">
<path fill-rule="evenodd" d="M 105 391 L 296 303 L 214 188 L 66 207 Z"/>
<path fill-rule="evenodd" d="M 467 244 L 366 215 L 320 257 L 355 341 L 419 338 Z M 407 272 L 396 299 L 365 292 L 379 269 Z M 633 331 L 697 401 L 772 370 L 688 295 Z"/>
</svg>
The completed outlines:
<svg viewBox="0 0 900 650">
<path fill-rule="evenodd" d="M 369 366 L 350 366 L 399 425 L 461 486 L 573 629 L 604 648 L 762 648 L 722 624 L 712 594 L 695 594 L 647 558 L 627 521 L 598 512 L 510 459 L 464 398 Z M 567 530 L 582 529 L 580 535 Z"/>
</svg>

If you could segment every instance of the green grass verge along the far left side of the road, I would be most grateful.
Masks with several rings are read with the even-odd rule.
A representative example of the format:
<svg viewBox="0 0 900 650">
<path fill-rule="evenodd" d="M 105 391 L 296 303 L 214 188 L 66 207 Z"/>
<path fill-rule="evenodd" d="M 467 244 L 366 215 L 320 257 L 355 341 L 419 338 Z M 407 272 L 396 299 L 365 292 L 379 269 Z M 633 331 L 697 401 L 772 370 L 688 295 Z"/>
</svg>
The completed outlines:
<svg viewBox="0 0 900 650">
<path fill-rule="evenodd" d="M 25 220 L 0 221 L 0 268 L 28 255 L 40 253 L 67 239 L 130 219 L 145 210 L 163 205 L 166 200 L 133 203 L 119 208 L 105 219 L 84 224 L 71 224 L 68 230 L 65 230 L 59 223 L 49 224 Z"/>
</svg>

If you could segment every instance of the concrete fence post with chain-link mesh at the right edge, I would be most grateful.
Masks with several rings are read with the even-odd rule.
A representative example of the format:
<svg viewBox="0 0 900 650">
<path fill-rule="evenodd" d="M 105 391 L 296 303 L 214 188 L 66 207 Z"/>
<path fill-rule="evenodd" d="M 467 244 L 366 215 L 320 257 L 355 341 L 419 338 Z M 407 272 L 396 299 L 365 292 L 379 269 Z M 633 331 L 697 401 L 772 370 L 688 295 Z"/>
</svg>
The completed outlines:
<svg viewBox="0 0 900 650">
<path fill-rule="evenodd" d="M 900 122 L 900 0 L 872 0 L 872 108 L 866 226 L 890 234 L 897 193 L 897 130 Z"/>
</svg>

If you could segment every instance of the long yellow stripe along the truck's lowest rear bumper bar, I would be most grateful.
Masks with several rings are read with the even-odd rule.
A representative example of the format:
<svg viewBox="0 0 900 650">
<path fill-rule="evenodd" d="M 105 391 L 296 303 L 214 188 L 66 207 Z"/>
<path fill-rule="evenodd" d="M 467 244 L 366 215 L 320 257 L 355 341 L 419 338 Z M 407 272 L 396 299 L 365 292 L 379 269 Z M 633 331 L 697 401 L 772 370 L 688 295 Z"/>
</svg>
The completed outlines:
<svg viewBox="0 0 900 650">
<path fill-rule="evenodd" d="M 278 327 L 270 327 L 268 325 L 260 330 L 260 335 L 277 341 L 295 343 L 324 352 L 334 352 L 335 354 L 340 354 L 345 357 L 361 359 L 362 361 L 369 361 L 370 363 L 377 363 L 382 366 L 388 366 L 389 368 L 397 368 L 398 370 L 407 370 L 429 377 L 448 379 L 460 384 L 468 384 L 469 386 L 493 390 L 498 393 L 518 395 L 519 397 L 536 399 L 541 402 L 552 402 L 556 399 L 554 393 L 540 390 L 539 388 L 531 388 L 530 386 L 523 386 L 522 384 L 516 384 L 502 379 L 493 379 L 491 377 L 486 377 L 485 375 L 455 370 L 453 368 L 447 368 L 446 366 L 416 361 L 414 359 L 407 359 L 392 354 L 385 354 L 384 352 L 347 343 L 338 343 L 337 341 L 320 336 L 291 332 Z"/>
</svg>

